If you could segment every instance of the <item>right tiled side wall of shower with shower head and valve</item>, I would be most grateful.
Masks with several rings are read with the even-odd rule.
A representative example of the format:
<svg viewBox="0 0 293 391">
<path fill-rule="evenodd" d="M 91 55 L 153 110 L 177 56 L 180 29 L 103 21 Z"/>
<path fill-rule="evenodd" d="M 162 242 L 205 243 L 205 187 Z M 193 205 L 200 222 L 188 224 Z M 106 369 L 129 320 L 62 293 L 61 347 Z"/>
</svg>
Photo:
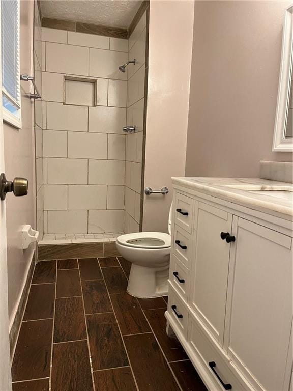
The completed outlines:
<svg viewBox="0 0 293 391">
<path fill-rule="evenodd" d="M 141 172 L 147 34 L 147 11 L 144 11 L 128 40 L 128 59 L 135 59 L 136 63 L 135 65 L 128 65 L 126 123 L 127 125 L 134 125 L 136 131 L 126 135 L 125 233 L 138 232 L 141 222 L 141 197 L 143 197 Z"/>
</svg>

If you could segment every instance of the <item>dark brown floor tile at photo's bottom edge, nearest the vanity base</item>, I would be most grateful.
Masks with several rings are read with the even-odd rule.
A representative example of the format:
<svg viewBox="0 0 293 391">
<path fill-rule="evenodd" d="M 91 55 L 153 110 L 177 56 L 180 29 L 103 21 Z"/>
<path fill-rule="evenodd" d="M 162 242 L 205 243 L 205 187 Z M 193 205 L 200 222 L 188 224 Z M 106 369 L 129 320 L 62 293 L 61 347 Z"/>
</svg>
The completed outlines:
<svg viewBox="0 0 293 391">
<path fill-rule="evenodd" d="M 171 362 L 170 365 L 182 391 L 208 391 L 190 360 Z"/>
</svg>

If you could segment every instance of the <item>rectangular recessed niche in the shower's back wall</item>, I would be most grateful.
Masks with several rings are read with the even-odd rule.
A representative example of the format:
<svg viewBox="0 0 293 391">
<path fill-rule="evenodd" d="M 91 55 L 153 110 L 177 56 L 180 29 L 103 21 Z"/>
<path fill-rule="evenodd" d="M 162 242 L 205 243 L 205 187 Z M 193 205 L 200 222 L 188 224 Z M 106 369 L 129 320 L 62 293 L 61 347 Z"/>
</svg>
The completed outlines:
<svg viewBox="0 0 293 391">
<path fill-rule="evenodd" d="M 97 80 L 64 76 L 64 104 L 97 105 Z"/>
</svg>

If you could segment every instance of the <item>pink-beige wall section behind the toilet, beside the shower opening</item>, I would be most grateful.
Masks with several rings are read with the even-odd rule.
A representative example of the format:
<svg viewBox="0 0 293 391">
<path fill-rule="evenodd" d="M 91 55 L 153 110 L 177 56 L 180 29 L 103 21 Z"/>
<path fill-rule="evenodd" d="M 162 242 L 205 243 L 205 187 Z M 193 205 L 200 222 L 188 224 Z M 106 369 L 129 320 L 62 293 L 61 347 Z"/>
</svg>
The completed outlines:
<svg viewBox="0 0 293 391">
<path fill-rule="evenodd" d="M 192 53 L 193 1 L 150 2 L 149 81 L 142 231 L 167 232 L 171 176 L 184 176 Z"/>
</svg>

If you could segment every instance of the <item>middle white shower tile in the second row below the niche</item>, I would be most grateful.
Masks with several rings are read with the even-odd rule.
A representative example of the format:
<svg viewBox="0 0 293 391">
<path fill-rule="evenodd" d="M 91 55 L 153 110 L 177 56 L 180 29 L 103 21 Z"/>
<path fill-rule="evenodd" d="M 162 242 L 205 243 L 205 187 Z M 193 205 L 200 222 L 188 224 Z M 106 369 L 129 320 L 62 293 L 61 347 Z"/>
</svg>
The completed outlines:
<svg viewBox="0 0 293 391">
<path fill-rule="evenodd" d="M 107 134 L 68 132 L 68 157 L 107 159 Z"/>
</svg>

